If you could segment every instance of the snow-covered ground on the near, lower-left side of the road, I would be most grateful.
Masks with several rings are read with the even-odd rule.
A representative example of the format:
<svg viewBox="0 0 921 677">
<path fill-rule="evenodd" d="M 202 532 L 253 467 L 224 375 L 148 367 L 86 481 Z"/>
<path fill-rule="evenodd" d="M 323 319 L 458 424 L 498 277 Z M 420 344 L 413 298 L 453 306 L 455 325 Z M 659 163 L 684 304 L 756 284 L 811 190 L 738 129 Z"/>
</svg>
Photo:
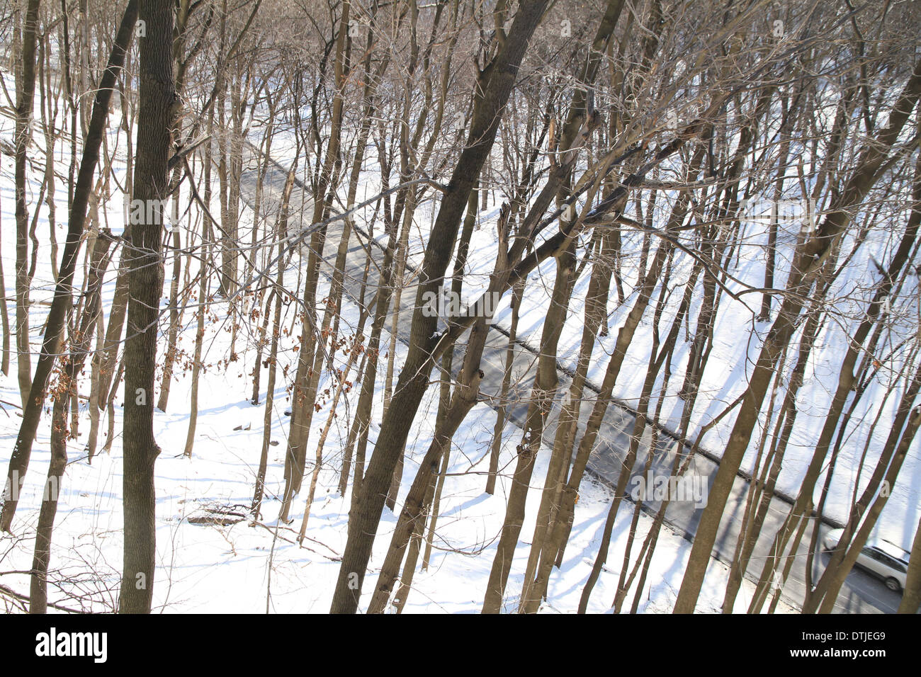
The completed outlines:
<svg viewBox="0 0 921 677">
<path fill-rule="evenodd" d="M 4 169 L 6 173 L 6 167 Z M 2 192 L 6 202 L 12 192 L 8 181 L 5 181 Z M 9 232 L 6 228 L 9 223 L 5 218 L 5 233 Z M 12 257 L 6 251 L 8 248 L 4 253 L 5 269 L 12 265 Z M 47 282 L 49 278 L 50 274 L 43 279 Z M 41 301 L 41 294 L 36 296 L 36 300 Z M 32 319 L 38 326 L 41 326 L 43 309 L 36 304 L 33 312 Z M 284 384 L 275 391 L 272 438 L 279 444 L 270 447 L 267 499 L 262 504 L 262 521 L 252 525 L 249 519 L 244 519 L 223 526 L 190 521 L 212 516 L 214 513 L 208 508 L 245 512 L 251 503 L 262 446 L 262 406 L 253 406 L 249 401 L 251 380 L 247 378 L 247 373 L 251 370 L 254 355 L 250 339 L 241 333 L 237 344 L 239 360 L 225 364 L 230 340 L 226 331 L 226 309 L 221 304 L 212 309 L 216 313 L 216 321 L 208 326 L 204 356 L 205 363 L 212 364 L 212 367 L 202 376 L 192 459 L 182 456 L 189 423 L 189 375 L 177 375 L 170 392 L 169 412 L 157 412 L 155 417 L 157 443 L 162 449 L 156 466 L 158 565 L 155 608 L 168 613 L 262 613 L 266 609 L 273 613 L 325 612 L 329 609 L 338 574 L 338 555 L 344 548 L 350 502 L 350 494 L 340 496 L 335 488 L 341 449 L 347 435 L 344 407 L 326 441 L 320 485 L 310 507 L 308 539 L 303 547 L 297 545 L 295 537 L 305 509 L 304 496 L 298 496 L 294 501 L 292 524 L 279 525 L 275 519 L 284 486 L 283 455 L 287 429 Z M 356 309 L 347 308 L 344 321 L 356 321 L 356 314 Z M 186 316 L 181 342 L 187 349 L 194 336 L 194 329 L 189 326 L 191 317 L 191 313 Z M 241 343 L 249 344 L 249 347 L 240 350 Z M 286 349 L 280 357 L 279 368 L 290 366 L 289 373 L 293 373 L 296 366 L 294 344 L 294 338 L 287 337 Z M 324 376 L 324 382 L 325 379 Z M 375 422 L 379 422 L 381 416 L 380 390 L 375 398 L 372 417 Z M 17 401 L 15 378 L 8 376 L 0 380 L 0 399 L 6 403 Z M 121 402 L 120 394 L 116 399 L 117 415 L 120 414 Z M 426 394 L 414 426 L 414 437 L 407 444 L 410 456 L 404 466 L 401 500 L 414 477 L 417 467 L 414 460 L 421 458 L 431 438 L 436 409 L 437 385 Z M 106 611 L 114 608 L 121 578 L 121 421 L 116 422 L 116 438 L 112 442 L 111 453 L 97 456 L 89 464 L 82 450 L 88 427 L 85 402 L 81 402 L 81 411 L 84 414 L 81 437 L 69 444 L 67 473 L 60 488 L 61 502 L 52 548 L 50 597 L 52 601 L 60 601 L 71 608 Z M 319 437 L 327 413 L 328 407 L 324 407 L 314 417 L 311 440 Z M 0 445 L 4 449 L 2 461 L 7 460 L 8 451 L 12 449 L 19 420 L 17 408 L 4 404 L 4 414 L 0 414 Z M 431 563 L 426 572 L 415 575 L 414 590 L 405 610 L 407 613 L 475 613 L 480 609 L 508 488 L 508 478 L 503 476 L 495 496 L 484 493 L 484 471 L 494 423 L 495 412 L 487 405 L 479 404 L 455 437 Z M 374 441 L 377 425 L 372 425 L 371 442 Z M 519 435 L 518 428 L 507 426 L 501 467 L 509 468 L 514 463 Z M 49 437 L 46 417 L 40 427 L 14 521 L 16 536 L 0 538 L 0 571 L 24 571 L 31 566 L 41 486 L 48 466 Z M 519 543 L 508 585 L 509 610 L 516 607 L 521 572 L 528 556 L 525 540 L 530 538 L 533 530 L 534 513 L 542 488 L 540 478 L 546 472 L 548 456 L 548 450 L 544 449 L 534 471 L 529 519 L 522 530 L 523 540 Z M 577 607 L 582 585 L 598 549 L 611 497 L 610 491 L 598 484 L 583 486 L 565 566 L 551 580 L 545 611 L 571 612 Z M 602 612 L 611 605 L 632 508 L 631 503 L 624 503 L 623 514 L 612 539 L 609 565 L 600 577 L 589 611 Z M 228 517 L 232 519 L 233 516 Z M 646 515 L 641 517 L 637 540 L 642 539 L 650 523 L 651 519 Z M 379 566 L 389 544 L 394 524 L 395 516 L 385 509 L 371 560 L 372 577 L 376 573 L 374 567 Z M 679 534 L 667 529 L 662 532 L 647 586 L 642 593 L 640 611 L 667 612 L 670 609 L 689 548 L 690 543 Z M 699 607 L 702 611 L 717 611 L 722 599 L 721 580 L 725 575 L 726 568 L 718 563 L 711 569 Z M 29 587 L 28 576 L 24 574 L 4 573 L 0 582 L 17 590 L 28 590 Z M 370 578 L 365 589 L 372 589 Z M 71 595 L 81 597 L 81 601 L 66 599 Z M 632 600 L 632 594 L 629 600 Z M 740 606 L 745 603 L 747 596 L 741 595 Z"/>
</svg>

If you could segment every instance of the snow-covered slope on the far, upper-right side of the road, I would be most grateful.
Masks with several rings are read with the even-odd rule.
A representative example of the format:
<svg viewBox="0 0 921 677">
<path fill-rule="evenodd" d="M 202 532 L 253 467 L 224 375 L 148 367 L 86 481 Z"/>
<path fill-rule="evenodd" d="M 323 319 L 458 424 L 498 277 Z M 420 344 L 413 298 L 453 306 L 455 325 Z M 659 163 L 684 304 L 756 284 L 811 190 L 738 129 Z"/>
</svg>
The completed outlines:
<svg viewBox="0 0 921 677">
<path fill-rule="evenodd" d="M 285 134 L 279 135 L 273 142 L 273 155 L 279 158 L 285 166 L 290 161 L 292 149 L 293 142 Z M 851 149 L 851 152 L 854 153 L 855 150 Z M 494 155 L 498 157 L 500 154 L 496 152 Z M 366 159 L 367 181 L 363 181 L 361 184 L 358 200 L 371 197 L 379 190 L 379 169 L 372 148 L 368 149 L 368 156 L 370 157 Z M 799 194 L 795 194 L 797 191 L 799 191 L 799 188 L 790 189 L 789 203 L 796 204 L 799 201 Z M 862 313 L 866 309 L 867 300 L 869 300 L 873 291 L 869 284 L 870 281 L 875 281 L 879 277 L 873 259 L 875 258 L 876 261 L 880 262 L 889 261 L 892 251 L 898 245 L 902 230 L 904 230 L 908 210 L 905 208 L 906 203 L 904 203 L 903 198 L 904 195 L 901 197 L 893 195 L 889 198 L 890 205 L 886 210 L 883 210 L 882 214 L 892 219 L 892 227 L 874 228 L 869 231 L 869 236 L 857 251 L 854 261 L 845 267 L 828 294 L 829 305 L 834 307 L 836 311 L 845 313 L 849 323 L 825 321 L 823 331 L 812 349 L 804 383 L 800 387 L 796 398 L 796 407 L 799 414 L 796 424 L 793 426 L 783 467 L 776 484 L 776 490 L 783 495 L 795 497 L 799 492 L 799 485 L 810 462 L 815 442 L 822 429 L 823 418 L 828 412 L 828 406 L 834 394 L 841 356 L 844 354 L 847 345 L 847 335 L 854 333 L 857 324 L 862 318 Z M 470 255 L 465 268 L 464 286 L 461 291 L 461 297 L 465 303 L 470 303 L 479 298 L 486 286 L 488 286 L 489 275 L 492 273 L 495 264 L 495 220 L 498 218 L 500 205 L 507 199 L 508 196 L 502 193 L 501 186 L 497 187 L 495 191 L 490 192 L 487 208 L 478 215 L 478 223 L 472 235 Z M 902 200 L 902 202 L 900 203 L 899 200 Z M 670 203 L 663 203 L 664 201 L 659 199 L 658 204 L 656 204 L 657 223 L 659 223 L 659 220 L 668 217 L 671 208 Z M 745 234 L 740 246 L 739 259 L 736 268 L 732 270 L 732 274 L 740 280 L 740 283 L 760 287 L 764 285 L 764 245 L 766 244 L 767 234 L 764 220 L 757 218 L 764 208 L 764 204 L 758 203 L 757 198 L 754 197 L 752 197 L 752 203 L 749 210 L 752 218 L 744 225 Z M 821 205 L 819 206 L 821 208 Z M 432 202 L 431 200 L 420 204 L 417 209 L 414 229 L 411 230 L 409 242 L 410 261 L 414 264 L 422 262 L 427 233 L 434 222 L 436 212 L 437 202 Z M 815 216 L 815 218 L 820 219 L 821 214 Z M 781 243 L 794 241 L 801 225 L 802 221 L 800 219 L 790 218 L 789 223 L 781 226 L 779 241 Z M 597 344 L 589 368 L 589 382 L 600 384 L 603 380 L 605 369 L 608 366 L 608 357 L 612 354 L 613 346 L 617 340 L 617 331 L 634 305 L 636 295 L 632 292 L 636 284 L 642 237 L 642 233 L 624 230 L 624 303 L 618 305 L 612 283 L 608 300 L 608 334 L 607 336 L 596 337 Z M 851 234 L 845 239 L 844 251 L 848 251 L 853 246 L 853 238 L 854 235 Z M 378 239 L 381 244 L 386 243 L 386 239 L 382 234 L 379 234 Z M 657 245 L 658 241 L 654 239 L 651 245 L 652 250 Z M 788 252 L 789 248 L 778 251 L 775 286 L 783 286 L 789 265 L 789 262 L 784 257 Z M 652 253 L 650 252 L 651 255 Z M 670 283 L 672 289 L 670 293 L 672 295 L 683 293 L 683 285 L 690 274 L 691 263 L 687 256 L 676 258 Z M 540 344 L 545 309 L 553 291 L 555 273 L 554 260 L 546 261 L 529 275 L 528 284 L 525 287 L 520 309 L 518 338 L 531 346 L 536 347 Z M 740 283 L 729 281 L 728 286 L 738 292 L 742 288 Z M 699 280 L 697 284 L 699 286 Z M 559 362 L 565 368 L 576 368 L 578 349 L 585 322 L 584 302 L 588 286 L 589 267 L 587 266 L 575 286 L 565 326 L 560 336 L 557 355 Z M 658 294 L 659 291 L 657 290 L 656 295 Z M 905 341 L 906 345 L 912 344 L 912 337 L 917 332 L 918 326 L 916 295 L 915 289 L 903 289 L 900 300 L 892 304 L 890 308 L 893 327 L 892 338 L 883 342 L 884 345 L 878 350 L 879 356 L 887 356 L 892 346 L 899 344 L 900 341 Z M 497 305 L 495 312 L 495 323 L 505 329 L 508 328 L 511 319 L 511 310 L 508 305 L 509 297 L 509 294 L 505 295 Z M 856 299 L 863 300 L 858 303 Z M 720 298 L 714 330 L 714 344 L 701 379 L 697 403 L 691 416 L 688 430 L 689 439 L 694 440 L 703 426 L 710 423 L 714 417 L 733 403 L 744 391 L 754 361 L 757 359 L 761 349 L 761 340 L 771 326 L 770 322 L 756 321 L 755 316 L 760 309 L 760 304 L 760 294 L 749 294 L 741 296 L 740 299 L 730 298 L 728 295 L 723 294 Z M 778 304 L 779 300 L 775 298 L 775 310 Z M 667 329 L 663 330 L 662 328 L 670 326 L 677 305 L 677 302 L 672 302 L 664 309 L 659 323 L 660 333 L 664 334 L 667 331 Z M 688 311 L 688 317 L 691 318 L 690 327 L 685 329 L 682 325 L 678 339 L 679 344 L 675 348 L 671 363 L 672 378 L 665 394 L 666 402 L 662 406 L 660 421 L 661 425 L 671 431 L 677 430 L 682 416 L 684 401 L 679 397 L 678 393 L 682 388 L 683 374 L 691 347 L 691 341 L 686 334 L 693 334 L 694 332 L 694 321 L 700 311 L 700 305 L 701 292 L 698 290 L 694 294 L 691 308 Z M 624 358 L 621 375 L 614 387 L 614 399 L 628 407 L 635 407 L 642 389 L 643 379 L 646 376 L 649 352 L 653 341 L 651 316 L 652 309 L 650 307 L 640 321 L 640 326 Z M 799 341 L 799 333 L 794 336 L 794 342 L 797 341 Z M 791 345 L 794 345 L 794 343 L 791 343 Z M 885 364 L 880 368 L 877 378 L 873 380 L 869 391 L 864 394 L 862 401 L 858 403 L 853 414 L 825 502 L 824 514 L 831 519 L 839 522 L 846 521 L 853 496 L 856 492 L 857 496 L 859 496 L 860 492 L 864 490 L 869 481 L 869 476 L 876 466 L 880 451 L 892 426 L 892 416 L 895 413 L 899 397 L 904 390 L 904 379 L 900 382 L 897 374 L 897 370 L 901 366 L 900 360 L 902 357 L 902 353 L 896 351 L 891 362 L 886 362 L 885 358 L 883 358 L 882 361 Z M 785 365 L 787 374 L 792 371 L 793 361 L 793 357 L 787 359 L 787 364 Z M 659 392 L 662 378 L 663 375 L 660 373 L 654 387 L 654 392 L 656 393 Z M 887 397 L 888 386 L 893 386 L 894 390 L 888 394 L 888 399 L 885 400 L 883 412 L 879 420 L 876 421 L 875 430 L 870 432 L 871 425 L 875 422 L 876 410 L 880 405 L 880 400 Z M 775 412 L 779 410 L 781 400 L 782 397 L 778 397 Z M 767 421 L 766 408 L 767 400 L 765 399 L 764 408 L 760 416 L 761 426 L 764 426 Z M 703 438 L 701 448 L 714 457 L 719 458 L 722 456 L 723 449 L 729 440 L 729 433 L 734 420 L 735 414 L 729 414 L 719 421 L 716 426 L 713 426 Z M 768 425 L 773 428 L 775 420 L 775 418 L 772 419 Z M 749 450 L 741 464 L 741 470 L 744 472 L 752 472 L 760 434 L 761 429 L 756 430 L 752 435 Z M 921 451 L 921 444 L 915 440 L 915 443 L 908 451 L 903 468 L 899 473 L 898 481 L 894 486 L 890 487 L 891 496 L 880 516 L 875 531 L 881 538 L 901 545 L 906 550 L 911 549 L 915 529 L 919 518 L 921 518 L 921 453 L 919 451 Z M 824 482 L 825 472 L 823 471 L 822 476 L 816 483 L 815 503 L 819 501 Z"/>
</svg>

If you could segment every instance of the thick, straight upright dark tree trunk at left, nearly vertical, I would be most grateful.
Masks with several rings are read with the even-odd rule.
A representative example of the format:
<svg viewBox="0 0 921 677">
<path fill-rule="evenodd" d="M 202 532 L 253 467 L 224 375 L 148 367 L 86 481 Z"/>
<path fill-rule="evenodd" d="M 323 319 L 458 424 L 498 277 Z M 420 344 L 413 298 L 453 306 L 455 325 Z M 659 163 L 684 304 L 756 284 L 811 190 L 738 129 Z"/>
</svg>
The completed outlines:
<svg viewBox="0 0 921 677">
<path fill-rule="evenodd" d="M 172 72 L 173 3 L 141 0 L 146 22 L 140 46 L 140 106 L 134 156 L 134 200 L 162 204 L 169 190 L 170 125 L 175 102 Z M 154 203 L 153 201 L 157 201 Z M 137 203 L 135 203 L 137 204 Z M 145 209 L 131 232 L 128 279 L 128 337 L 124 349 L 124 556 L 120 613 L 150 613 L 157 532 L 154 462 L 154 384 L 157 369 L 157 309 L 163 293 L 160 250 L 163 214 Z M 152 216 L 152 218 L 148 218 Z"/>
</svg>

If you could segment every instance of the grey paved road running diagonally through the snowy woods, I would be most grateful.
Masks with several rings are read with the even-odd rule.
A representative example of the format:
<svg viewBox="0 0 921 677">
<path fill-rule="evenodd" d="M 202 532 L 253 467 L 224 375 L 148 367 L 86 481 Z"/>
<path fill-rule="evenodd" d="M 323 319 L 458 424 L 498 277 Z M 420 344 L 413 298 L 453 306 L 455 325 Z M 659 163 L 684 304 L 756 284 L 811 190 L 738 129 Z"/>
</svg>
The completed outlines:
<svg viewBox="0 0 921 677">
<path fill-rule="evenodd" d="M 258 174 L 256 162 L 254 161 L 254 149 L 247 146 L 247 152 L 251 157 L 246 158 L 244 170 L 241 178 L 241 194 L 243 200 L 250 206 L 253 205 Z M 272 162 L 268 168 L 263 181 L 263 214 L 274 215 L 277 211 L 282 191 L 285 186 L 287 170 L 281 165 Z M 297 209 L 301 210 L 304 216 L 304 223 L 309 223 L 310 214 L 312 213 L 312 204 L 309 197 L 303 192 L 303 186 L 298 182 L 295 191 L 291 197 L 292 216 L 290 218 L 289 228 L 297 228 L 298 218 L 295 216 Z M 301 207 L 301 205 L 304 205 Z M 269 216 L 270 218 L 272 216 Z M 332 275 L 332 264 L 335 260 L 336 249 L 343 235 L 343 222 L 336 221 L 332 223 L 327 230 L 326 247 L 323 251 L 323 263 L 321 270 L 324 274 Z M 346 296 L 356 299 L 358 286 L 364 272 L 366 260 L 367 234 L 359 231 L 353 232 L 349 242 L 349 251 L 346 259 L 345 270 L 345 290 Z M 371 251 L 375 256 L 378 264 L 382 260 L 382 251 L 379 246 L 371 246 Z M 369 291 L 375 289 L 379 284 L 379 274 L 372 265 L 368 276 Z M 370 294 L 368 298 L 372 298 Z M 401 299 L 400 322 L 398 326 L 398 338 L 403 343 L 408 343 L 410 336 L 410 320 L 412 318 L 412 306 L 414 304 L 415 293 L 403 293 Z M 390 328 L 390 324 L 387 325 Z M 462 353 L 462 346 L 466 344 L 465 338 L 461 337 L 458 342 L 456 353 Z M 486 398 L 497 394 L 501 390 L 501 381 L 503 369 L 505 366 L 506 349 L 508 344 L 507 333 L 503 332 L 500 327 L 490 328 L 486 340 L 486 347 L 482 360 L 482 368 L 485 372 L 485 378 L 480 385 L 480 390 Z M 516 344 L 515 358 L 513 362 L 514 381 L 517 383 L 513 397 L 518 398 L 518 403 L 509 407 L 510 420 L 518 425 L 523 426 L 524 417 L 527 412 L 527 397 L 530 392 L 530 385 L 536 372 L 536 350 L 527 344 Z M 456 359 L 455 364 L 460 365 L 461 360 Z M 559 368 L 559 392 L 568 390 L 570 378 L 566 370 Z M 589 383 L 586 389 L 587 402 L 581 407 L 582 420 L 579 423 L 580 428 L 584 426 L 585 419 L 591 411 L 595 394 L 598 387 Z M 623 460 L 629 447 L 629 431 L 633 429 L 634 414 L 629 409 L 621 405 L 612 405 L 609 407 L 604 423 L 601 426 L 599 443 L 597 448 L 592 452 L 589 460 L 589 473 L 600 483 L 612 487 L 617 482 L 618 474 L 623 466 Z M 555 430 L 555 414 L 551 414 L 548 420 L 544 438 L 553 445 Z M 647 436 L 648 437 L 648 436 Z M 670 438 L 667 434 L 659 436 L 661 442 L 659 449 L 654 454 L 654 460 L 651 466 L 651 474 L 654 478 L 667 478 L 670 475 L 670 469 L 674 461 L 674 454 L 678 449 L 678 442 Z M 648 452 L 648 442 L 645 442 L 641 449 L 639 458 L 635 464 L 635 473 L 642 474 L 645 466 L 646 455 Z M 683 449 L 687 453 L 687 449 Z M 713 483 L 717 473 L 718 460 L 710 458 L 698 452 L 694 456 L 691 467 L 687 475 L 699 478 L 697 481 L 705 482 L 707 487 Z M 655 481 L 655 479 L 654 479 Z M 628 486 L 635 486 L 635 481 L 631 477 Z M 729 562 L 735 550 L 736 540 L 740 529 L 740 515 L 744 510 L 745 499 L 749 490 L 749 482 L 742 474 L 735 478 L 735 484 L 729 496 L 729 502 L 723 513 L 723 519 L 717 533 L 717 543 L 714 546 L 713 555 L 724 562 Z M 627 496 L 629 499 L 630 496 Z M 655 514 L 659 508 L 659 503 L 655 500 L 644 501 L 644 509 L 651 514 Z M 749 566 L 747 577 L 756 578 L 762 569 L 764 557 L 767 554 L 773 534 L 779 528 L 780 523 L 787 515 L 789 509 L 789 499 L 784 496 L 773 496 L 768 509 L 767 518 L 764 521 L 762 538 L 756 543 L 754 553 L 752 554 L 752 563 Z M 695 507 L 693 501 L 672 501 L 666 511 L 666 521 L 674 531 L 682 533 L 688 540 L 693 540 L 694 532 L 700 520 L 703 506 Z M 799 607 L 805 593 L 805 567 L 806 567 L 806 545 L 810 541 L 811 531 L 814 524 L 810 524 L 803 536 L 799 552 L 796 557 L 796 564 L 793 566 L 790 576 L 784 586 L 782 597 L 786 601 Z M 820 537 L 825 531 L 835 526 L 829 522 L 819 525 Z M 828 562 L 828 555 L 819 554 L 815 558 L 815 571 L 813 579 L 817 579 L 825 564 Z M 877 578 L 869 576 L 862 571 L 855 570 L 847 578 L 845 586 L 841 589 L 838 600 L 835 603 L 836 613 L 893 613 L 898 608 L 901 596 L 892 592 L 882 584 Z"/>
</svg>

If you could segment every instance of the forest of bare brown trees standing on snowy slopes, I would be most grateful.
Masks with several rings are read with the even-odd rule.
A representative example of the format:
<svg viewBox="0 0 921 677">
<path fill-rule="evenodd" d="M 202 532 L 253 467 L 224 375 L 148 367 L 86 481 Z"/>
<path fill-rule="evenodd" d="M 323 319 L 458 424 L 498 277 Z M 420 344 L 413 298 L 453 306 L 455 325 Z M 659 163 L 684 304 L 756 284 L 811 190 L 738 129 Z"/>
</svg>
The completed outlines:
<svg viewBox="0 0 921 677">
<path fill-rule="evenodd" d="M 5 0 L 5 611 L 917 613 L 919 29 Z"/>
</svg>

